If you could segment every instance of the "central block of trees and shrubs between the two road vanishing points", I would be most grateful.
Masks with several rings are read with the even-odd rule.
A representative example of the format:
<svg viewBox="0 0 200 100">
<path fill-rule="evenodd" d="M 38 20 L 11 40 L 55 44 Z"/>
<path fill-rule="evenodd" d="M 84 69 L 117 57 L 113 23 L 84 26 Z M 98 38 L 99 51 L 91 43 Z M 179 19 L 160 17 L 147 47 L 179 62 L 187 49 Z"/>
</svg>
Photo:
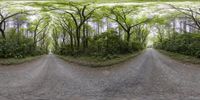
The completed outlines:
<svg viewBox="0 0 200 100">
<path fill-rule="evenodd" d="M 151 18 L 130 18 L 139 6 L 93 7 L 75 2 L 62 4 L 71 9 L 57 8 L 66 13 L 56 16 L 55 23 L 59 24 L 54 27 L 52 34 L 54 53 L 113 59 L 116 55 L 146 48 L 149 29 L 145 24 Z"/>
</svg>

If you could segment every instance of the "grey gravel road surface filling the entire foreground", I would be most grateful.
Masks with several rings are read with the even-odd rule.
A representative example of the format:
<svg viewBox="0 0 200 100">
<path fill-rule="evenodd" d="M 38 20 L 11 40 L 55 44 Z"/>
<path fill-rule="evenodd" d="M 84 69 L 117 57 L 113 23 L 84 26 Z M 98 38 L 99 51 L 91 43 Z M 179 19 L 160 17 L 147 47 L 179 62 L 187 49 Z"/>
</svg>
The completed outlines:
<svg viewBox="0 0 200 100">
<path fill-rule="evenodd" d="M 200 65 L 179 63 L 154 49 L 104 68 L 47 55 L 1 66 L 0 100 L 200 100 Z"/>
</svg>

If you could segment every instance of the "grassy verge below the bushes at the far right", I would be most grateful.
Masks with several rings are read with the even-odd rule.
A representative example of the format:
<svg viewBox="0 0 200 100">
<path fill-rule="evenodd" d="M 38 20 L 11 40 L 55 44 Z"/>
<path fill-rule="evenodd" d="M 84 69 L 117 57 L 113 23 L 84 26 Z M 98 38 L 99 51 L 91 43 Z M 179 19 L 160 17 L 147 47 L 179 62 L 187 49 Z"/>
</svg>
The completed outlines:
<svg viewBox="0 0 200 100">
<path fill-rule="evenodd" d="M 183 63 L 192 63 L 192 64 L 200 64 L 200 59 L 192 56 L 182 55 L 179 53 L 173 53 L 169 51 L 159 50 L 164 55 L 169 56 L 172 59 L 181 61 Z"/>
</svg>

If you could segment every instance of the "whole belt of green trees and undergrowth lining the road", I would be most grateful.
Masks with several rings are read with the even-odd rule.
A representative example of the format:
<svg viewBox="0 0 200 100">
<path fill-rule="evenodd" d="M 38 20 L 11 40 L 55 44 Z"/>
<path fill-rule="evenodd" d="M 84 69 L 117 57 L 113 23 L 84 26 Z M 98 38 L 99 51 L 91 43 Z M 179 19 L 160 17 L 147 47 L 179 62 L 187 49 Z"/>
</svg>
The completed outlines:
<svg viewBox="0 0 200 100">
<path fill-rule="evenodd" d="M 0 6 L 3 5 L 6 2 Z M 98 6 L 71 1 L 18 5 L 32 10 L 13 10 L 14 6 L 9 4 L 2 7 L 0 58 L 37 56 L 47 54 L 50 49 L 57 55 L 106 61 L 145 49 L 150 33 L 157 35 L 153 40 L 156 48 L 200 58 L 200 14 L 195 8 L 166 4 L 177 11 L 166 13 L 167 10 L 158 11 L 156 6 L 160 4 L 152 11 L 144 10 L 143 5 Z M 177 20 L 182 22 L 176 23 Z M 177 31 L 176 24 L 182 25 L 182 29 Z"/>
</svg>

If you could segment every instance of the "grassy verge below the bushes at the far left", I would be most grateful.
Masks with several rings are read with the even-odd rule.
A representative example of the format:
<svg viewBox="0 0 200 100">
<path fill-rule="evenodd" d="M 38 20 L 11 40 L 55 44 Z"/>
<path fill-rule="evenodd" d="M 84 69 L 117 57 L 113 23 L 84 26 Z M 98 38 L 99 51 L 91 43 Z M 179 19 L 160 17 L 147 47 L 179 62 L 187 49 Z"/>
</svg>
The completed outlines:
<svg viewBox="0 0 200 100">
<path fill-rule="evenodd" d="M 24 62 L 29 62 L 35 59 L 40 58 L 41 56 L 31 56 L 31 57 L 26 57 L 26 58 L 8 58 L 8 59 L 2 59 L 0 58 L 0 65 L 14 65 L 14 64 L 21 64 Z"/>
</svg>

